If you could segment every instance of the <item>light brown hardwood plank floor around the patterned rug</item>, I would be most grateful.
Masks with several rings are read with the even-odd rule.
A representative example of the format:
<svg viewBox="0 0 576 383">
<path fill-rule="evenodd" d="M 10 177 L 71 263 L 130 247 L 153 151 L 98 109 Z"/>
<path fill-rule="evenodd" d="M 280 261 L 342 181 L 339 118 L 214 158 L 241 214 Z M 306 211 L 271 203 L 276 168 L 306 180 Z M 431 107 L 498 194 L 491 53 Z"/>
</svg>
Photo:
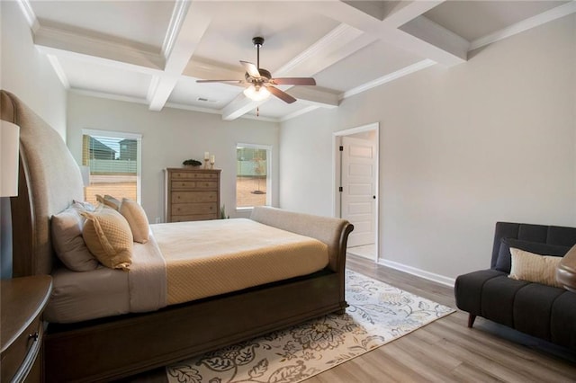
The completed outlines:
<svg viewBox="0 0 576 383">
<path fill-rule="evenodd" d="M 348 255 L 347 267 L 421 297 L 455 306 L 450 287 Z M 462 311 L 438 319 L 306 383 L 349 382 L 576 382 L 576 352 Z M 576 324 L 575 324 L 576 325 Z M 156 370 L 132 382 L 166 381 Z"/>
</svg>

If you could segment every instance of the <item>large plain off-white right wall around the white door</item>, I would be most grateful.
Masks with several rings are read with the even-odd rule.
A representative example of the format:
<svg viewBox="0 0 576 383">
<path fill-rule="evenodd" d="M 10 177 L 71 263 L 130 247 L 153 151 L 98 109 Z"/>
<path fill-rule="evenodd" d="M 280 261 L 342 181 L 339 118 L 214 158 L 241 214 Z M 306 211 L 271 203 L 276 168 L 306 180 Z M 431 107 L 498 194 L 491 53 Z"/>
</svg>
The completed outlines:
<svg viewBox="0 0 576 383">
<path fill-rule="evenodd" d="M 381 262 L 488 268 L 498 220 L 576 226 L 575 105 L 572 14 L 286 121 L 280 206 L 331 215 L 332 134 L 378 121 Z"/>
</svg>

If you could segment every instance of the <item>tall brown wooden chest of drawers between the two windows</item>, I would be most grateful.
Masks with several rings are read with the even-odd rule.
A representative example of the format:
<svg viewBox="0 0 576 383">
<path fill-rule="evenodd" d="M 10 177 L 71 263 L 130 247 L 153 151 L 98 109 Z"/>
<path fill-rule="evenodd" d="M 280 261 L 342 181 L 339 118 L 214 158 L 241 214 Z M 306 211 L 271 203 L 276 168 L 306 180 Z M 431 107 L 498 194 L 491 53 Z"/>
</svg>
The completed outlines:
<svg viewBox="0 0 576 383">
<path fill-rule="evenodd" d="M 220 218 L 220 169 L 167 168 L 166 222 Z"/>
</svg>

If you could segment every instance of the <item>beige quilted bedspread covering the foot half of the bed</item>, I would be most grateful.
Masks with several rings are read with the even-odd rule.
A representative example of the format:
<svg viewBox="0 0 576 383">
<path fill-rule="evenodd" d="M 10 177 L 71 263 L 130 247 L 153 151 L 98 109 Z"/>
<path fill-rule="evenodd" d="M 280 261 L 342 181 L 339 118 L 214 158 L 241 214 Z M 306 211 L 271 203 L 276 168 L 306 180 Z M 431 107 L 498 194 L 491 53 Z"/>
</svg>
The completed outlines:
<svg viewBox="0 0 576 383">
<path fill-rule="evenodd" d="M 166 261 L 173 305 L 318 272 L 328 246 L 251 219 L 150 225 Z"/>
</svg>

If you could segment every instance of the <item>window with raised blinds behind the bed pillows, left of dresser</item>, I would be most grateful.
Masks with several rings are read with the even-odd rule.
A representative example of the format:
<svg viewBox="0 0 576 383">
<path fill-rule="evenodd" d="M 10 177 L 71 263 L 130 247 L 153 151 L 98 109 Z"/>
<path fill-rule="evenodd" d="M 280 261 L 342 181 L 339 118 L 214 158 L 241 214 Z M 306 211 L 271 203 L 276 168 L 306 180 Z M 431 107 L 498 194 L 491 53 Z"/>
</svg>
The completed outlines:
<svg viewBox="0 0 576 383">
<path fill-rule="evenodd" d="M 141 135 L 104 130 L 82 131 L 82 165 L 90 168 L 85 200 L 96 194 L 140 201 Z"/>
</svg>

